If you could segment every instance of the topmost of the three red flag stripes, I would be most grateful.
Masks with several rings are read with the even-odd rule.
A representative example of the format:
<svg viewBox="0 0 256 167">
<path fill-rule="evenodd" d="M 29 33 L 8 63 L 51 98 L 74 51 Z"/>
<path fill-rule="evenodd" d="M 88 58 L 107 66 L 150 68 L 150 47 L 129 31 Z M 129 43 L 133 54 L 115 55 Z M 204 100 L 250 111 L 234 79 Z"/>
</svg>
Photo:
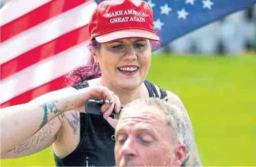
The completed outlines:
<svg viewBox="0 0 256 167">
<path fill-rule="evenodd" d="M 52 0 L 0 27 L 0 42 L 89 0 Z"/>
</svg>

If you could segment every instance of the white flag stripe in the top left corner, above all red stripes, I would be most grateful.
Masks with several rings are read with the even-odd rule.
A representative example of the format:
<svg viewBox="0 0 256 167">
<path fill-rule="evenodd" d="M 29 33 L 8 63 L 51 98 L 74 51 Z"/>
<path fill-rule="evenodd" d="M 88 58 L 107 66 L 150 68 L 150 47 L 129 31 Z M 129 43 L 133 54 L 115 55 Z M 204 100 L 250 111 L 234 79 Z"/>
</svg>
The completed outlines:
<svg viewBox="0 0 256 167">
<path fill-rule="evenodd" d="M 51 0 L 10 0 L 10 2 L 4 4 L 0 10 L 0 25 L 2 26 L 49 1 Z"/>
</svg>

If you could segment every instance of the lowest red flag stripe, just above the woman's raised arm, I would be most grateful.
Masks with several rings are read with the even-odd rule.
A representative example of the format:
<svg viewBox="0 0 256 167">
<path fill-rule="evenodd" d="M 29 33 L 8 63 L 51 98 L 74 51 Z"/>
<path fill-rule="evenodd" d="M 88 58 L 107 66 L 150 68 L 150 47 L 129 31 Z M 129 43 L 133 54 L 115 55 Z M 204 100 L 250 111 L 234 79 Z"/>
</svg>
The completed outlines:
<svg viewBox="0 0 256 167">
<path fill-rule="evenodd" d="M 42 84 L 36 88 L 30 89 L 29 91 L 26 91 L 18 96 L 15 96 L 14 98 L 2 103 L 0 105 L 1 108 L 8 107 L 12 105 L 27 103 L 31 101 L 32 99 L 43 95 L 47 92 L 54 91 L 61 88 L 61 85 L 64 82 L 64 77 L 59 77 L 55 80 L 52 80 L 49 83 Z M 18 86 L 18 85 L 17 85 Z"/>
</svg>

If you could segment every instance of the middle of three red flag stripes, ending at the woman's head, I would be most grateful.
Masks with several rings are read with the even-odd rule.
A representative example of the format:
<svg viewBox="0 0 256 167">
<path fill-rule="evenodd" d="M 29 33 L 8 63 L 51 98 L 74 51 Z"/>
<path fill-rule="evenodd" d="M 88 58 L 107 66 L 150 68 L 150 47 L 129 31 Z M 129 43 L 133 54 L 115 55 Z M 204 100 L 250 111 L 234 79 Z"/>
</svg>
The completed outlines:
<svg viewBox="0 0 256 167">
<path fill-rule="evenodd" d="M 3 63 L 0 66 L 0 80 L 3 80 L 46 58 L 54 56 L 68 48 L 80 44 L 89 38 L 88 24 L 63 34 L 52 41 L 40 45 L 6 63 Z"/>
</svg>

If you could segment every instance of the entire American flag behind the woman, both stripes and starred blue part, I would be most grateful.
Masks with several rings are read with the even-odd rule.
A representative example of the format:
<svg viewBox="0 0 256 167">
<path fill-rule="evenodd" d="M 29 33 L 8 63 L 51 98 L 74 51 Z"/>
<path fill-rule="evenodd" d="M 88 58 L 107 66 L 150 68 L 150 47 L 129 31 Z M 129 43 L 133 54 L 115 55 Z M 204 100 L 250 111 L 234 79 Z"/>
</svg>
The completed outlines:
<svg viewBox="0 0 256 167">
<path fill-rule="evenodd" d="M 102 0 L 9 0 L 1 8 L 1 107 L 60 88 L 86 64 L 88 22 Z M 145 0 L 162 46 L 256 0 Z M 210 33 L 210 32 L 209 32 Z"/>
</svg>

